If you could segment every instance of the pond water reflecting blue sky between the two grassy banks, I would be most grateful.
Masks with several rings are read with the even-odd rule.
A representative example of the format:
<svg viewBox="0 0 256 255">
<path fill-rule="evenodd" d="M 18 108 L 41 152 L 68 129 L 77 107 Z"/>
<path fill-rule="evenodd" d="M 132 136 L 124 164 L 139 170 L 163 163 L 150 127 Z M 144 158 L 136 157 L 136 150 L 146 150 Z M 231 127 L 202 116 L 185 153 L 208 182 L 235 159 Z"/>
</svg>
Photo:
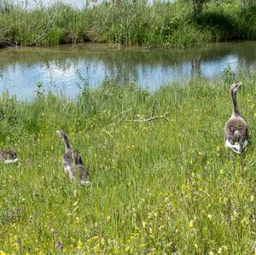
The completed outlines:
<svg viewBox="0 0 256 255">
<path fill-rule="evenodd" d="M 105 78 L 119 84 L 137 81 L 155 90 L 193 76 L 218 78 L 225 68 L 256 70 L 256 42 L 218 43 L 195 49 L 110 48 L 80 43 L 54 48 L 0 49 L 0 94 L 32 98 L 37 83 L 70 98 L 79 94 L 80 76 L 96 87 Z M 80 75 L 79 75 L 80 74 Z"/>
</svg>

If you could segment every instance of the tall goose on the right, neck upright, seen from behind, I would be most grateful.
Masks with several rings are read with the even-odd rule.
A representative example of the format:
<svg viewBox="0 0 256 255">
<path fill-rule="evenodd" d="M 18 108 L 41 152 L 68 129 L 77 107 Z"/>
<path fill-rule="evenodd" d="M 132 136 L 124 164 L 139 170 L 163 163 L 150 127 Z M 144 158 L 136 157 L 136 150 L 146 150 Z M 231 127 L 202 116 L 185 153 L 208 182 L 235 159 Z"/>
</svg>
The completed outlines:
<svg viewBox="0 0 256 255">
<path fill-rule="evenodd" d="M 236 101 L 236 92 L 241 88 L 241 85 L 241 83 L 233 84 L 230 88 L 233 110 L 232 116 L 224 126 L 225 144 L 236 154 L 241 154 L 248 144 L 247 123 L 241 118 Z"/>
</svg>

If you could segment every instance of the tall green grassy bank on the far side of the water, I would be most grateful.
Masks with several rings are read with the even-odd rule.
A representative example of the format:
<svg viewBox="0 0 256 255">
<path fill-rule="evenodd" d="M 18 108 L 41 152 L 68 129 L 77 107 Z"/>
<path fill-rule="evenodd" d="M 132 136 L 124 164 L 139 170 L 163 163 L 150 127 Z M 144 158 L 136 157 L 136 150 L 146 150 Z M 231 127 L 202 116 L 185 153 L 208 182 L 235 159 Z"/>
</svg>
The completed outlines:
<svg viewBox="0 0 256 255">
<path fill-rule="evenodd" d="M 255 6 L 242 9 L 241 1 L 210 1 L 196 18 L 191 4 L 182 0 L 154 4 L 121 1 L 119 7 L 103 3 L 83 10 L 63 4 L 33 10 L 8 5 L 0 14 L 0 44 L 49 46 L 83 40 L 190 47 L 255 39 L 255 17 Z"/>
</svg>

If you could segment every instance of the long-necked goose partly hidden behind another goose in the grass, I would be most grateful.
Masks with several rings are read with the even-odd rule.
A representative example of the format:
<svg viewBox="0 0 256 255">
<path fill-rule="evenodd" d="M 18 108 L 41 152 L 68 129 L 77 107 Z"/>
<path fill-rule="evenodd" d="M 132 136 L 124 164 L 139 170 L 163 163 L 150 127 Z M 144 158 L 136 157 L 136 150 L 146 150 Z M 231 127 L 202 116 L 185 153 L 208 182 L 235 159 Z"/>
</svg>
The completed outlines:
<svg viewBox="0 0 256 255">
<path fill-rule="evenodd" d="M 62 156 L 62 165 L 64 166 L 64 171 L 66 171 L 70 176 L 72 176 L 71 167 L 73 166 L 73 148 L 68 142 L 68 138 L 63 130 L 56 130 L 58 136 L 61 137 L 65 145 L 65 154 Z M 83 165 L 83 160 L 79 156 L 79 164 Z"/>
</svg>

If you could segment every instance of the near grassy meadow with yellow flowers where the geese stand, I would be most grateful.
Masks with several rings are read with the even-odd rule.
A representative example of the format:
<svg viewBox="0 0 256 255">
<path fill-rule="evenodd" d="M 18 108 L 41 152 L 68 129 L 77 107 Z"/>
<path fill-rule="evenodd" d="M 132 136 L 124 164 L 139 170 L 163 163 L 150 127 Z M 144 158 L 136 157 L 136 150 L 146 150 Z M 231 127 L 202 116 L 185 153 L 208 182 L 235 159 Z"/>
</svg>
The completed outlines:
<svg viewBox="0 0 256 255">
<path fill-rule="evenodd" d="M 238 79 L 245 84 L 238 103 L 251 135 L 244 167 L 224 148 L 228 76 L 218 83 L 170 84 L 154 94 L 105 82 L 77 101 L 41 93 L 30 102 L 1 96 L 1 148 L 20 157 L 18 165 L 0 162 L 3 252 L 252 252 L 256 86 L 255 76 Z M 169 121 L 125 122 L 137 114 L 148 118 L 154 100 L 154 116 L 170 112 Z M 130 108 L 121 123 L 109 125 Z M 62 170 L 59 129 L 90 168 L 90 188 L 70 183 Z"/>
</svg>

